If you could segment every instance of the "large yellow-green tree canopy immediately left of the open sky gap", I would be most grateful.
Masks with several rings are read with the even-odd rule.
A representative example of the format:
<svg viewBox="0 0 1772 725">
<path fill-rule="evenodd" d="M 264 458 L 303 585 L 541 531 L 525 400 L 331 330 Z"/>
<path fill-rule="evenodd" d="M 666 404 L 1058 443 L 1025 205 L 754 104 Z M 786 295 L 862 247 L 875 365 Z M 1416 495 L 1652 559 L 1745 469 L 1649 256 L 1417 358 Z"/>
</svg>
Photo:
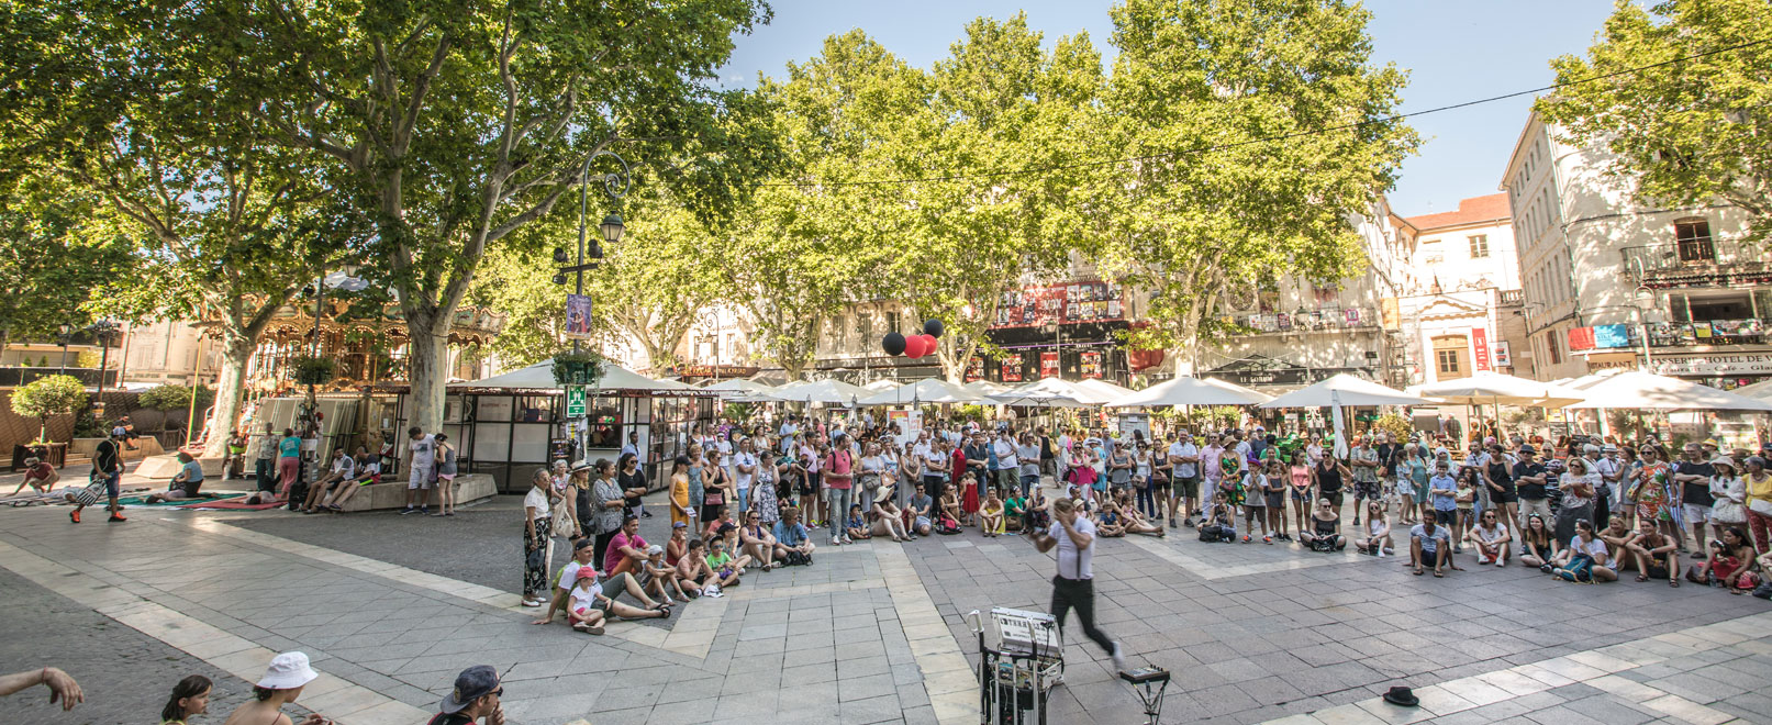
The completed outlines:
<svg viewBox="0 0 1772 725">
<path fill-rule="evenodd" d="M 1224 294 L 1276 271 L 1356 273 L 1348 218 L 1395 183 L 1414 131 L 1405 74 L 1372 64 L 1370 12 L 1343 0 L 1125 0 L 1090 218 L 1100 268 L 1152 292 L 1138 344 L 1219 330 Z M 1278 138 L 1278 140 L 1271 140 Z"/>
</svg>

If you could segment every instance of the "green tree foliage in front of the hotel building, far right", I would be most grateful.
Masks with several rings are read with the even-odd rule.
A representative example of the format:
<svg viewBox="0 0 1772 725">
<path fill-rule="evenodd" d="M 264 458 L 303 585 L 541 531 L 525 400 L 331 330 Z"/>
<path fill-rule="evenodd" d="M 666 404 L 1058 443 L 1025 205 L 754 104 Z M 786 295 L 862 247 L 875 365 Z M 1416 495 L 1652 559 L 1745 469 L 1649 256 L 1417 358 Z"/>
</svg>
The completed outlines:
<svg viewBox="0 0 1772 725">
<path fill-rule="evenodd" d="M 1653 67 L 1644 67 L 1653 66 Z M 1772 23 L 1761 0 L 1618 2 L 1588 57 L 1550 62 L 1538 99 L 1574 145 L 1611 152 L 1605 174 L 1644 207 L 1719 200 L 1772 234 Z"/>
</svg>

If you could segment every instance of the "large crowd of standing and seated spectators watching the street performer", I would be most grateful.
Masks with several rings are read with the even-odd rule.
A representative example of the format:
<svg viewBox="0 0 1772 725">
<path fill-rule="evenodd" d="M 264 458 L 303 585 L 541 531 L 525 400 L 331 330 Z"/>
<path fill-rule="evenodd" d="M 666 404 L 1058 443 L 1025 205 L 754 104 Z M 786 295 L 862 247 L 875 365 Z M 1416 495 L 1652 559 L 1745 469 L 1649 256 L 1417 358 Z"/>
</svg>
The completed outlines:
<svg viewBox="0 0 1772 725">
<path fill-rule="evenodd" d="M 696 429 L 688 454 L 670 461 L 673 535 L 657 553 L 615 544 L 627 523 L 650 516 L 633 452 L 537 472 L 525 601 L 558 608 L 563 599 L 551 592 L 574 587 L 558 573 L 549 587 L 548 558 L 535 551 L 551 537 L 590 546 L 602 576 L 631 573 L 636 601 L 650 608 L 737 583 L 748 571 L 808 564 L 812 530 L 824 530 L 829 546 L 964 530 L 1022 535 L 1051 525 L 1053 500 L 1070 500 L 1100 537 L 1187 526 L 1210 542 L 1354 544 L 1407 558 L 1416 574 L 1446 576 L 1469 557 L 1582 583 L 1634 571 L 1637 581 L 1767 594 L 1772 473 L 1761 456 L 1694 441 L 1671 461 L 1653 440 L 1538 450 L 1524 438 L 1483 436 L 1460 448 L 1434 433 L 1368 433 L 1348 443 L 1338 456 L 1324 436 L 1262 425 L 1148 438 L 1008 422 L 905 433 L 867 415 Z"/>
</svg>

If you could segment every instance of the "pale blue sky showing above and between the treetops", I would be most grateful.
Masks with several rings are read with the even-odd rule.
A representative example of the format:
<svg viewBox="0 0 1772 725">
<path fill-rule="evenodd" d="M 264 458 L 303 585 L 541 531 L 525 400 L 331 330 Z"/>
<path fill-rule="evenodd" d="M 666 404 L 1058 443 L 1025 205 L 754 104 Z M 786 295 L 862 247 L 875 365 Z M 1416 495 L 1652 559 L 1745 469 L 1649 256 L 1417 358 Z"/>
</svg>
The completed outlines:
<svg viewBox="0 0 1772 725">
<path fill-rule="evenodd" d="M 824 37 L 863 28 L 911 64 L 929 67 L 948 53 L 966 21 L 1026 11 L 1047 43 L 1088 30 L 1108 48 L 1109 0 L 771 0 L 774 21 L 737 39 L 723 71 L 734 85 L 758 73 L 785 74 L 789 60 L 819 51 Z M 1535 89 L 1552 82 L 1549 60 L 1584 53 L 1611 14 L 1611 0 L 1368 0 L 1375 62 L 1411 71 L 1403 110 L 1425 110 L 1476 97 Z M 1425 144 L 1403 161 L 1389 193 L 1403 216 L 1458 207 L 1465 197 L 1496 193 L 1513 140 L 1526 124 L 1529 97 L 1412 119 Z"/>
</svg>

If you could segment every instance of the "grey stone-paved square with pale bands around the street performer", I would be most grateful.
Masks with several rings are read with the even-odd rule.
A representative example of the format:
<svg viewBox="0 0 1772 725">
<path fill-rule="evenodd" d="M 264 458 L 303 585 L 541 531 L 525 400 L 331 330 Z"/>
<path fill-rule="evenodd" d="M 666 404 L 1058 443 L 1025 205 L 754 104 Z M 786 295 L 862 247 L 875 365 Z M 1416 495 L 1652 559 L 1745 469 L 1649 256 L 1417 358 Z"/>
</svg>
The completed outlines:
<svg viewBox="0 0 1772 725">
<path fill-rule="evenodd" d="M 177 652 L 128 688 L 74 672 L 96 697 L 206 668 L 252 681 L 273 652 L 303 649 L 326 677 L 301 706 L 351 725 L 424 721 L 477 663 L 507 674 L 512 723 L 973 723 L 962 617 L 1044 610 L 1053 573 L 1021 537 L 820 548 L 812 567 L 595 638 L 528 624 L 516 521 L 510 498 L 454 519 L 135 509 L 128 525 L 71 526 L 62 507 L 0 511 L 0 567 Z M 643 534 L 663 539 L 663 521 Z M 1095 560 L 1102 626 L 1134 663 L 1175 674 L 1164 721 L 1772 720 L 1760 599 L 1579 587 L 1469 558 L 1469 573 L 1416 578 L 1395 558 L 1189 534 L 1102 541 Z M 0 590 L 0 604 L 18 612 L 21 594 Z M 1141 721 L 1106 654 L 1069 635 L 1053 721 Z M 41 652 L 76 647 L 34 636 Z M 1379 702 L 1393 684 L 1423 707 Z"/>
</svg>

